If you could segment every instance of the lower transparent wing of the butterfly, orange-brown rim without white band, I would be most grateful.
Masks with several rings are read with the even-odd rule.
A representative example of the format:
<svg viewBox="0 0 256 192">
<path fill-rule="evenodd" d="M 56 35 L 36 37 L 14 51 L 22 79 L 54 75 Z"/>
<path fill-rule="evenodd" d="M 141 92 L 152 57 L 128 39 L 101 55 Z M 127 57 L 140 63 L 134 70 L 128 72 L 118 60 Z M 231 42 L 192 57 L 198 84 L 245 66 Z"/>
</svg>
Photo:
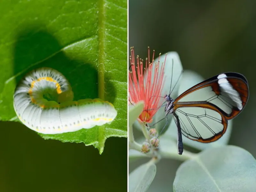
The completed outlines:
<svg viewBox="0 0 256 192">
<path fill-rule="evenodd" d="M 227 129 L 227 119 L 219 109 L 211 105 L 194 104 L 194 106 L 179 107 L 175 110 L 181 133 L 191 140 L 209 143 L 218 140 Z M 177 118 L 174 117 L 177 124 Z"/>
</svg>

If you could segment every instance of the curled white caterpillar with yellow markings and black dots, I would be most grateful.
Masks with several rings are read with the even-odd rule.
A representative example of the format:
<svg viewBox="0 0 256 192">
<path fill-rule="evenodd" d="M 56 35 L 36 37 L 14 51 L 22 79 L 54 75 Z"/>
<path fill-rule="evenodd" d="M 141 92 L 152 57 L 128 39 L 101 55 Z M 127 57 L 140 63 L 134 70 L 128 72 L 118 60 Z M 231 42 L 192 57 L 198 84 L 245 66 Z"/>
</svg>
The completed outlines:
<svg viewBox="0 0 256 192">
<path fill-rule="evenodd" d="M 116 118 L 117 111 L 108 101 L 73 98 L 65 76 L 52 68 L 38 68 L 17 84 L 13 106 L 23 124 L 44 134 L 90 129 Z"/>
</svg>

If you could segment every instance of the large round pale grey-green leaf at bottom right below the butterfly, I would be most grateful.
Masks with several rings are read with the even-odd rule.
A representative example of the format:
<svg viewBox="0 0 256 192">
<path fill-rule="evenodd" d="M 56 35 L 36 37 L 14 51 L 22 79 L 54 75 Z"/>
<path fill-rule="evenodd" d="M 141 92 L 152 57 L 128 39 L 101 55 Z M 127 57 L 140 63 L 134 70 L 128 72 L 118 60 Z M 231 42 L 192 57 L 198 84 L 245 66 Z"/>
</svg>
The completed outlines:
<svg viewBox="0 0 256 192">
<path fill-rule="evenodd" d="M 256 160 L 236 146 L 206 149 L 180 165 L 173 190 L 188 192 L 255 191 Z"/>
</svg>

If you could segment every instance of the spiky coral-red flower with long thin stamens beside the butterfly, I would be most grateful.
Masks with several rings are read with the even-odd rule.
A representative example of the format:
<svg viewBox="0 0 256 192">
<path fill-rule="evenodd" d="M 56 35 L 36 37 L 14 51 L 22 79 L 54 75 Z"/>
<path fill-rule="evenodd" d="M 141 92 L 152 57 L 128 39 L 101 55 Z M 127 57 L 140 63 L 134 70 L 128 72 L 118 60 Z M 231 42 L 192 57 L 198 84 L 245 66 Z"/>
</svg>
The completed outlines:
<svg viewBox="0 0 256 192">
<path fill-rule="evenodd" d="M 164 84 L 166 56 L 160 70 L 159 60 L 154 63 L 154 56 L 155 50 L 153 50 L 153 57 L 150 62 L 150 51 L 148 47 L 148 58 L 146 58 L 146 66 L 143 70 L 143 60 L 137 56 L 135 61 L 134 48 L 131 48 L 130 61 L 132 71 L 129 71 L 129 101 L 132 104 L 138 103 L 141 100 L 144 101 L 145 107 L 139 116 L 140 121 L 143 123 L 151 123 L 153 121 L 153 116 L 163 102 L 163 97 L 160 94 Z M 137 66 L 135 66 L 135 62 Z M 155 65 L 154 71 L 153 65 Z"/>
</svg>

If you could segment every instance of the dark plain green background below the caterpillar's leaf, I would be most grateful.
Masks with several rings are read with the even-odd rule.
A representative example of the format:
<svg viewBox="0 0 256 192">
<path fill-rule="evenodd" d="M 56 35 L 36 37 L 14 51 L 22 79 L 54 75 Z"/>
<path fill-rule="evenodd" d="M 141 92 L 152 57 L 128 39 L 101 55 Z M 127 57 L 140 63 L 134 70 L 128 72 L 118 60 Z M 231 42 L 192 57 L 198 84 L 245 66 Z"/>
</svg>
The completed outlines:
<svg viewBox="0 0 256 192">
<path fill-rule="evenodd" d="M 127 139 L 108 138 L 102 155 L 83 143 L 44 140 L 0 122 L 0 191 L 126 191 Z"/>
</svg>

